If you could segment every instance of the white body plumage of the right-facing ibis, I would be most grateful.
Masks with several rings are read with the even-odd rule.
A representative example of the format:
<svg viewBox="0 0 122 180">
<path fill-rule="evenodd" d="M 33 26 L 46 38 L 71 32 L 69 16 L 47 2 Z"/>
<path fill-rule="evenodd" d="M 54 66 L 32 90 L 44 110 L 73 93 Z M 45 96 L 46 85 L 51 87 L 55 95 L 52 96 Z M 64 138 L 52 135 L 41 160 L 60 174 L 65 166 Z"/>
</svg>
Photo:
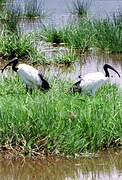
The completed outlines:
<svg viewBox="0 0 122 180">
<path fill-rule="evenodd" d="M 84 93 L 90 93 L 92 96 L 106 81 L 108 77 L 101 72 L 88 73 L 81 78 L 80 87 Z"/>
</svg>

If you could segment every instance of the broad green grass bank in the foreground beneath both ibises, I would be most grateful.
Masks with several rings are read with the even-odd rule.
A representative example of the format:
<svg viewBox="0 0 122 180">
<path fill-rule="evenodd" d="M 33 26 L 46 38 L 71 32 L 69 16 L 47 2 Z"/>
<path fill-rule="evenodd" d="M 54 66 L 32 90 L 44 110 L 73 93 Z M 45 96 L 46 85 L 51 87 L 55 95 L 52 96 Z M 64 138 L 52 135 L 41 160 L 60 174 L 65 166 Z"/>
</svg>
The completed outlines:
<svg viewBox="0 0 122 180">
<path fill-rule="evenodd" d="M 0 83 L 0 144 L 24 155 L 80 155 L 118 147 L 122 136 L 122 92 L 106 84 L 95 97 L 70 94 L 71 82 L 48 79 L 51 90 L 26 94 L 18 76 Z"/>
</svg>

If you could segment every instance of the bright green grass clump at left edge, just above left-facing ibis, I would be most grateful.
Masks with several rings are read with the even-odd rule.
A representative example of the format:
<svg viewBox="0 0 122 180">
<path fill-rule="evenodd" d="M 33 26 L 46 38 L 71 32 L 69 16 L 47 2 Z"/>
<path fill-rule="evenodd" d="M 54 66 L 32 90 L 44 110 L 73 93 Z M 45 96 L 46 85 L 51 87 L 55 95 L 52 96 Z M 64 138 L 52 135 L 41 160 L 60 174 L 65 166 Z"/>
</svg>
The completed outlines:
<svg viewBox="0 0 122 180">
<path fill-rule="evenodd" d="M 37 48 L 34 46 L 29 35 L 23 37 L 22 33 L 11 32 L 3 29 L 0 34 L 0 56 L 34 58 L 37 54 Z"/>
</svg>

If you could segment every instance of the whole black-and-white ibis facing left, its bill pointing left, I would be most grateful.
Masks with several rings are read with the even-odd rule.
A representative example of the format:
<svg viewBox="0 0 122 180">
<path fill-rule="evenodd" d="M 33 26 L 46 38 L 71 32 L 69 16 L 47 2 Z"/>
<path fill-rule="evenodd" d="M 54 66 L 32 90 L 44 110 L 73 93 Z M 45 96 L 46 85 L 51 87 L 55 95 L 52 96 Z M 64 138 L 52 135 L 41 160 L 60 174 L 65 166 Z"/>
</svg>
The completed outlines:
<svg viewBox="0 0 122 180">
<path fill-rule="evenodd" d="M 43 78 L 42 74 L 37 69 L 27 64 L 19 64 L 16 66 L 18 64 L 17 57 L 13 58 L 8 64 L 6 64 L 2 69 L 2 72 L 11 64 L 13 71 L 18 73 L 20 78 L 23 80 L 23 83 L 26 85 L 27 91 L 29 88 L 32 93 L 33 87 L 38 87 L 42 90 L 50 89 L 49 83 Z"/>
</svg>

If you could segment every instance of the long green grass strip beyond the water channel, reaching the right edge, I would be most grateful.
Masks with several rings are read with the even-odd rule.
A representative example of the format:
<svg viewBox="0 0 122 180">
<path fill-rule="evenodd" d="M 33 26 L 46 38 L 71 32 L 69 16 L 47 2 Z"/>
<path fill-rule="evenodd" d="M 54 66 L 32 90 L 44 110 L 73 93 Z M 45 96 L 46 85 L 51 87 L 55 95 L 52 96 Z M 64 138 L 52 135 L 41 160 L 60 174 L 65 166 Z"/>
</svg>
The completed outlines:
<svg viewBox="0 0 122 180">
<path fill-rule="evenodd" d="M 109 52 L 122 52 L 122 21 L 121 14 L 110 18 L 94 19 L 82 18 L 77 23 L 65 25 L 61 28 L 44 27 L 41 37 L 52 43 L 65 43 L 83 52 L 91 48 L 99 48 Z"/>
</svg>

